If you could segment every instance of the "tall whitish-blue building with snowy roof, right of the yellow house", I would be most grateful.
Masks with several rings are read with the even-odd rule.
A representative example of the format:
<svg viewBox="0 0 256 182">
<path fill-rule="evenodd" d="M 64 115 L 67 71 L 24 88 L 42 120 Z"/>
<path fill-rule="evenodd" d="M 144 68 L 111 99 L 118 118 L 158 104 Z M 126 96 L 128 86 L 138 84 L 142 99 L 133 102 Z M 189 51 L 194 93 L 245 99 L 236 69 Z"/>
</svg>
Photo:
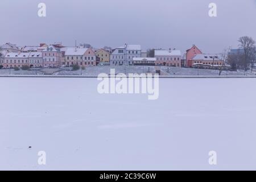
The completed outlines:
<svg viewBox="0 0 256 182">
<path fill-rule="evenodd" d="M 113 50 L 110 65 L 133 65 L 134 57 L 141 57 L 141 46 L 125 44 Z"/>
</svg>

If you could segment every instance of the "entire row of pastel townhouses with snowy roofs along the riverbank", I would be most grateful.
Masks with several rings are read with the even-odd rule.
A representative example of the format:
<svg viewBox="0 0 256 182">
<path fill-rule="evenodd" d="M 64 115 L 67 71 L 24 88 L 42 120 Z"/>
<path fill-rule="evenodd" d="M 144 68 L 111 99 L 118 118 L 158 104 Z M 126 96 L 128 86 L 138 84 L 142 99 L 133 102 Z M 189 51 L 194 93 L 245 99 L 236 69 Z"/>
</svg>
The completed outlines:
<svg viewBox="0 0 256 182">
<path fill-rule="evenodd" d="M 2 55 L 0 56 L 0 66 L 4 68 L 20 67 L 21 64 L 28 64 L 30 67 L 53 68 L 71 67 L 77 64 L 86 67 L 97 65 L 100 62 L 110 65 L 163 65 L 170 67 L 196 67 L 198 65 L 217 67 L 224 64 L 220 54 L 204 54 L 195 45 L 186 51 L 185 56 L 181 56 L 181 51 L 176 49 L 156 49 L 155 56 L 152 58 L 147 57 L 147 53 L 142 51 L 140 45 L 129 44 L 113 50 L 64 47 L 61 43 L 51 46 L 47 44 L 24 46 L 21 49 L 15 44 L 6 43 L 0 48 Z"/>
</svg>

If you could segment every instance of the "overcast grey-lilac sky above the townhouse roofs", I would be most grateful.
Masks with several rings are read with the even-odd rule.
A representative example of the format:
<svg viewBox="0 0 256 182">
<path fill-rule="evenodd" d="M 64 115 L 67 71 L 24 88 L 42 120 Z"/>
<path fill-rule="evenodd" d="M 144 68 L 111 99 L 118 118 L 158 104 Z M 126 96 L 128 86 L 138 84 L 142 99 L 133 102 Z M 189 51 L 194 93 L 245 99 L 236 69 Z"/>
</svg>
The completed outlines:
<svg viewBox="0 0 256 182">
<path fill-rule="evenodd" d="M 38 3 L 47 6 L 39 18 Z M 210 18 L 208 5 L 217 4 Z M 196 44 L 205 53 L 256 39 L 256 0 L 1 0 L 0 44 L 62 42 L 93 47 L 141 44 L 185 51 Z"/>
</svg>

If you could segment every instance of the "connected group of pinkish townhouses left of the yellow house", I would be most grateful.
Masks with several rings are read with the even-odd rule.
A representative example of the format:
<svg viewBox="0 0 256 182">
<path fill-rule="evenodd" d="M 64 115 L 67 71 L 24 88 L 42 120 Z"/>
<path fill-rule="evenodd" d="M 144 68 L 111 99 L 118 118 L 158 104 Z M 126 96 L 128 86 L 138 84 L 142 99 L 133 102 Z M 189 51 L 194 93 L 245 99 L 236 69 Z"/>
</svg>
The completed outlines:
<svg viewBox="0 0 256 182">
<path fill-rule="evenodd" d="M 3 52 L 3 51 L 1 51 Z M 64 51 L 55 46 L 47 46 L 42 51 L 5 52 L 0 59 L 3 68 L 27 65 L 33 68 L 60 68 L 62 66 L 96 65 L 96 54 L 91 48 L 66 48 Z"/>
</svg>

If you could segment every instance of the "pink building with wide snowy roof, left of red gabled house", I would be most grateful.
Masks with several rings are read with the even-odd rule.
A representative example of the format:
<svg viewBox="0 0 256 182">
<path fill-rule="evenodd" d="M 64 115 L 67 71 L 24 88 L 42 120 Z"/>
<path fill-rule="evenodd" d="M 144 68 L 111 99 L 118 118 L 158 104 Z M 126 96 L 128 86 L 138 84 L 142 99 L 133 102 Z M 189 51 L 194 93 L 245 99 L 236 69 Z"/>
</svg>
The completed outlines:
<svg viewBox="0 0 256 182">
<path fill-rule="evenodd" d="M 155 50 L 156 65 L 181 67 L 181 52 L 179 50 Z"/>
</svg>

